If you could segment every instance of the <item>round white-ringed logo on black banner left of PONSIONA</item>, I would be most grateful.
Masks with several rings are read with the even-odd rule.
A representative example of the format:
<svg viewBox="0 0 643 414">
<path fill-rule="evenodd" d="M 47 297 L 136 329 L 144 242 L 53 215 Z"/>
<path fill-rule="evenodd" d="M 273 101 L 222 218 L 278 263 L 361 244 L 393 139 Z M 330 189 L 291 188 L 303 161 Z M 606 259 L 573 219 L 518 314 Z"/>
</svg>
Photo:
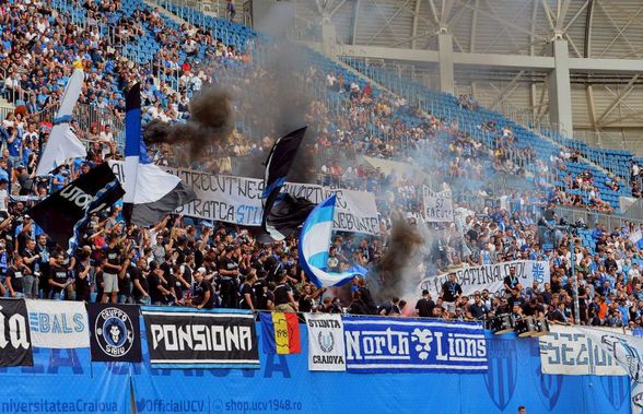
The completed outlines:
<svg viewBox="0 0 643 414">
<path fill-rule="evenodd" d="M 103 309 L 94 326 L 94 335 L 98 346 L 112 357 L 124 356 L 131 350 L 133 332 L 131 319 L 118 308 Z"/>
</svg>

